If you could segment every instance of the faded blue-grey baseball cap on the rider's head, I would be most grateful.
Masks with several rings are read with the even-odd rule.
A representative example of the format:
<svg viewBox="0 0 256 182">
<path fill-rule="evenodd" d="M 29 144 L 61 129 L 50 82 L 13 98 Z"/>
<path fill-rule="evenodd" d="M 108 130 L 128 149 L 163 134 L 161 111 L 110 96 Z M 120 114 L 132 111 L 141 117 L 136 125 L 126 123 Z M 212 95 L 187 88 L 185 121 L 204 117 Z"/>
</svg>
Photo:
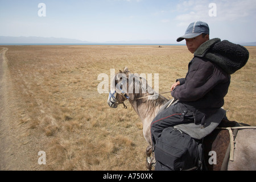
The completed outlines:
<svg viewBox="0 0 256 182">
<path fill-rule="evenodd" d="M 196 36 L 199 36 L 201 34 L 209 34 L 209 26 L 205 22 L 197 21 L 189 24 L 185 35 L 177 38 L 177 42 L 180 42 L 181 40 L 184 39 L 192 39 L 195 38 Z"/>
</svg>

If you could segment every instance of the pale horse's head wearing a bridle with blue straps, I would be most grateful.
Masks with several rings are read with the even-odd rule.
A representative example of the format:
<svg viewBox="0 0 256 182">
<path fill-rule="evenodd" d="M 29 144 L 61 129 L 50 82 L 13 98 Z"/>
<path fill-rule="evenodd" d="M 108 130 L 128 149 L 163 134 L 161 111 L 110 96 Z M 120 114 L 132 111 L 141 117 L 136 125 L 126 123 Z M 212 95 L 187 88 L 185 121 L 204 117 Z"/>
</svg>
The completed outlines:
<svg viewBox="0 0 256 182">
<path fill-rule="evenodd" d="M 114 78 L 111 78 L 110 92 L 108 98 L 108 104 L 112 108 L 117 108 L 119 104 L 123 104 L 123 107 L 127 109 L 124 102 L 129 99 L 127 92 L 128 82 L 128 68 L 124 68 L 123 72 L 120 70 L 115 74 Z"/>
</svg>

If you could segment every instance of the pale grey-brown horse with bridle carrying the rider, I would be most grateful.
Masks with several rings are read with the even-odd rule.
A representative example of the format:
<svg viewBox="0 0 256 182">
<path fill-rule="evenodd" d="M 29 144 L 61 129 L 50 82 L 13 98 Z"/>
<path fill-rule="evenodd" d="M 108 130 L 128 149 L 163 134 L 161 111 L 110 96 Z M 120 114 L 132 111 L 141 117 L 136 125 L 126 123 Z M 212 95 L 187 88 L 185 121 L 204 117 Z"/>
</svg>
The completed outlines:
<svg viewBox="0 0 256 182">
<path fill-rule="evenodd" d="M 117 108 L 119 104 L 123 104 L 123 106 L 127 108 L 124 103 L 126 100 L 130 102 L 131 106 L 142 120 L 143 136 L 148 143 L 148 147 L 146 148 L 146 167 L 151 169 L 152 160 L 148 161 L 148 158 L 150 158 L 152 154 L 151 122 L 158 114 L 159 110 L 166 105 L 169 100 L 161 94 L 156 93 L 155 90 L 147 84 L 145 78 L 131 74 L 129 69 L 125 67 L 123 71 L 120 70 L 111 78 L 108 105 L 112 108 Z M 222 127 L 216 128 L 211 134 L 204 138 L 205 169 L 214 171 L 254 171 L 256 169 L 255 127 L 238 127 L 239 130 L 236 130 L 236 148 L 234 150 L 234 146 L 232 148 L 232 144 L 230 144 L 234 142 L 231 128 L 237 126 L 237 122 L 224 119 L 220 125 L 222 125 Z M 233 159 L 229 156 L 229 154 L 232 154 L 231 152 L 229 153 L 230 148 L 231 151 L 234 152 Z M 216 151 L 217 162 L 210 163 L 209 155 L 212 155 L 209 153 L 210 151 Z"/>
</svg>

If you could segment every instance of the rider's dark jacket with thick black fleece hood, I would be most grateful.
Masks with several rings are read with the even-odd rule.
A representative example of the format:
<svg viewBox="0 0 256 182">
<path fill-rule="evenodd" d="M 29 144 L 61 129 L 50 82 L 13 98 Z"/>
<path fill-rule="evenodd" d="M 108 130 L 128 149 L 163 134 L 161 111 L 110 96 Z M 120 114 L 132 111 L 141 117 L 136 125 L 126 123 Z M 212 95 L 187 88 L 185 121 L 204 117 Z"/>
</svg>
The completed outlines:
<svg viewBox="0 0 256 182">
<path fill-rule="evenodd" d="M 242 68 L 248 59 L 245 47 L 218 38 L 208 40 L 194 53 L 187 76 L 178 79 L 180 85 L 172 91 L 172 97 L 206 113 L 219 109 L 228 93 L 230 74 Z"/>
</svg>

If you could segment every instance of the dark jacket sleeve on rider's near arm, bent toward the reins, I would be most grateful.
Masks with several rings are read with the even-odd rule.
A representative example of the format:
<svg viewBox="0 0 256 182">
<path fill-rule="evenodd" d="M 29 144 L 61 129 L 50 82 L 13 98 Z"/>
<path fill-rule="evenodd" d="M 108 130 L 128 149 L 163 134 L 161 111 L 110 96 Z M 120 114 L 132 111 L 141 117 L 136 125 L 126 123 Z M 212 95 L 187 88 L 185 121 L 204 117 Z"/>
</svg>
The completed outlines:
<svg viewBox="0 0 256 182">
<path fill-rule="evenodd" d="M 184 84 L 172 91 L 172 97 L 185 102 L 197 101 L 220 82 L 220 74 L 209 61 L 195 61 L 190 65 Z"/>
</svg>

